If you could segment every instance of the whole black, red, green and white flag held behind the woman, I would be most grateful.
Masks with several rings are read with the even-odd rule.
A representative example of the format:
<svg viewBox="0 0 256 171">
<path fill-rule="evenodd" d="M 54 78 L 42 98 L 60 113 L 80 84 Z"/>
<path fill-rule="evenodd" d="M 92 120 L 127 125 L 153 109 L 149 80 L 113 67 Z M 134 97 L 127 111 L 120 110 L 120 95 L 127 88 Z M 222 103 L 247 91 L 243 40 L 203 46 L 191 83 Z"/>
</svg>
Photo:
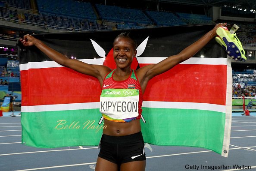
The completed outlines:
<svg viewBox="0 0 256 171">
<path fill-rule="evenodd" d="M 129 31 L 141 48 L 137 49 L 139 65 L 133 64 L 136 69 L 178 54 L 213 27 L 211 24 L 34 36 L 69 58 L 113 68 L 112 41 L 119 33 Z M 21 52 L 22 143 L 50 148 L 97 145 L 102 130 L 107 129 L 103 123 L 98 124 L 101 88 L 97 79 L 60 66 L 36 47 L 23 48 Z M 144 141 L 203 147 L 228 156 L 230 63 L 213 39 L 193 58 L 150 80 L 142 112 L 146 123 L 141 121 Z"/>
</svg>

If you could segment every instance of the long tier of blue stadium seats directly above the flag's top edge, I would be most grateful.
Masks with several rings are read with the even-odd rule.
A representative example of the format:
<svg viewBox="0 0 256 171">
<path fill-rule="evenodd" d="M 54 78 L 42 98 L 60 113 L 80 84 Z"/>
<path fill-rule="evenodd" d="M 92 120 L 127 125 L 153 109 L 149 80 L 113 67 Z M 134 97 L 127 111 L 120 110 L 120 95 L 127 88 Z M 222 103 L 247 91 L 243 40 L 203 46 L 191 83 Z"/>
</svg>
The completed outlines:
<svg viewBox="0 0 256 171">
<path fill-rule="evenodd" d="M 69 31 L 214 23 L 206 15 L 144 11 L 102 4 L 92 5 L 74 0 L 37 0 L 36 2 L 37 11 L 32 9 L 28 0 L 22 0 L 19 3 L 18 0 L 6 1 L 12 8 L 0 8 L 1 18 L 7 21 Z M 19 8 L 28 10 L 18 12 Z M 113 14 L 112 11 L 115 13 Z M 115 24 L 106 24 L 104 21 L 116 22 L 116 27 L 114 27 Z"/>
</svg>

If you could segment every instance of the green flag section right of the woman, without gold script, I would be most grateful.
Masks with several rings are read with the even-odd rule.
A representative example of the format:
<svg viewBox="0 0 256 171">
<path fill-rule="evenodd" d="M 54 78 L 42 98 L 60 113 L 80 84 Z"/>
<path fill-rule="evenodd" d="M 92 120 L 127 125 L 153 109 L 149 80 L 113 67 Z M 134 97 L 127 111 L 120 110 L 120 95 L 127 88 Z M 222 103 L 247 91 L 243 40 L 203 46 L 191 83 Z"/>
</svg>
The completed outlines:
<svg viewBox="0 0 256 171">
<path fill-rule="evenodd" d="M 203 147 L 222 153 L 225 113 L 168 108 L 143 108 L 143 111 L 145 142 Z"/>
</svg>

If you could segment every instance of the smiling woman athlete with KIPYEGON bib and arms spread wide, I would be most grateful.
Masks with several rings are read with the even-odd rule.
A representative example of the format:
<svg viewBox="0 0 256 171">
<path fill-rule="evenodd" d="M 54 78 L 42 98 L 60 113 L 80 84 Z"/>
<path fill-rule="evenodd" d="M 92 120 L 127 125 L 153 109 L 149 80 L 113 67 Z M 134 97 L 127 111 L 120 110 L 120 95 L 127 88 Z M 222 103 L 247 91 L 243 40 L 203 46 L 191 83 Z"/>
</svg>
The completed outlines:
<svg viewBox="0 0 256 171">
<path fill-rule="evenodd" d="M 139 92 L 139 97 L 134 99 L 134 102 L 136 102 L 136 104 L 138 103 L 138 106 L 141 106 L 143 92 L 151 78 L 168 71 L 175 65 L 194 56 L 194 54 L 200 51 L 211 39 L 217 36 L 217 28 L 225 25 L 226 23 L 216 24 L 212 30 L 180 53 L 172 55 L 159 63 L 141 67 L 136 71 L 131 69 L 131 63 L 137 54 L 137 43 L 127 33 L 121 33 L 113 42 L 113 58 L 116 62 L 116 70 L 112 70 L 103 65 L 91 65 L 79 60 L 71 60 L 31 35 L 25 35 L 24 39 L 20 39 L 20 41 L 24 46 L 36 46 L 60 65 L 97 78 L 101 87 L 105 90 L 106 88 L 104 87 L 106 86 L 104 83 L 107 81 L 109 81 L 109 85 L 107 85 L 109 87 L 107 87 L 107 89 L 112 87 L 113 89 L 120 90 L 124 88 L 125 85 L 127 86 L 132 80 L 133 84 L 136 84 L 136 89 Z M 106 75 L 109 75 L 109 73 L 112 73 L 112 76 L 109 77 L 110 79 L 106 78 Z M 134 77 L 137 79 L 131 78 L 131 73 L 134 73 L 133 75 L 135 75 Z M 126 84 L 123 84 L 123 82 Z M 124 96 L 121 95 L 121 99 L 122 97 Z M 113 95 L 111 98 L 114 99 L 115 96 Z M 125 102 L 125 99 L 122 99 L 122 101 Z M 102 102 L 105 103 L 106 101 L 102 99 Z M 101 147 L 97 159 L 97 171 L 119 171 L 120 168 L 122 171 L 145 171 L 146 156 L 144 154 L 144 140 L 140 126 L 142 110 L 141 107 L 137 107 L 137 109 L 135 114 L 128 112 L 128 116 L 126 117 L 116 113 L 116 111 L 111 111 L 110 114 L 104 114 L 104 112 L 102 112 L 103 116 L 105 116 L 104 125 L 107 126 L 107 128 L 103 129 L 103 135 L 100 141 Z M 121 120 L 119 119 L 120 117 L 124 119 Z M 129 142 L 127 142 L 127 140 Z M 121 147 L 120 143 L 122 143 Z M 129 151 L 127 151 L 127 149 L 129 149 Z M 116 150 L 118 150 L 118 154 L 113 153 L 113 151 Z M 121 156 L 123 157 L 121 158 Z"/>
</svg>

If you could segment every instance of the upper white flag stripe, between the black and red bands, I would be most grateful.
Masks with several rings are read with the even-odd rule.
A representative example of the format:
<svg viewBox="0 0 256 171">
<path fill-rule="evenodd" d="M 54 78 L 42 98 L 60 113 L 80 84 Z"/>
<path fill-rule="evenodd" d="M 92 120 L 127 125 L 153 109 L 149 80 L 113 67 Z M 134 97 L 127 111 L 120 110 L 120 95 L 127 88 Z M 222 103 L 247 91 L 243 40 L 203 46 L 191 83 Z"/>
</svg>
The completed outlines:
<svg viewBox="0 0 256 171">
<path fill-rule="evenodd" d="M 138 63 L 159 63 L 164 60 L 166 57 L 137 57 Z M 104 62 L 103 58 L 100 59 L 83 59 L 80 60 L 89 64 L 102 65 Z M 200 58 L 192 57 L 181 64 L 198 64 L 198 65 L 227 65 L 227 58 Z M 40 68 L 56 68 L 63 67 L 54 61 L 44 61 L 44 62 L 29 62 L 25 64 L 20 64 L 19 69 L 28 70 L 28 69 L 40 69 Z"/>
</svg>

